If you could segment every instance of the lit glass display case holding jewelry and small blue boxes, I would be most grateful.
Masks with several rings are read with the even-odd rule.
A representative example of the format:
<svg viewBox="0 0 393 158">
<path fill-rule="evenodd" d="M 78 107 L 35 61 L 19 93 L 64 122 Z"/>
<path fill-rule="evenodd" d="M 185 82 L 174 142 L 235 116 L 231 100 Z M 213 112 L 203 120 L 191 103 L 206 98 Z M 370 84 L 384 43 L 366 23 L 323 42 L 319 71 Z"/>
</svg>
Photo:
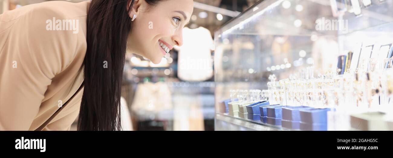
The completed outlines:
<svg viewBox="0 0 393 158">
<path fill-rule="evenodd" d="M 391 8 L 261 0 L 233 18 L 215 31 L 215 130 L 393 130 Z"/>
</svg>

